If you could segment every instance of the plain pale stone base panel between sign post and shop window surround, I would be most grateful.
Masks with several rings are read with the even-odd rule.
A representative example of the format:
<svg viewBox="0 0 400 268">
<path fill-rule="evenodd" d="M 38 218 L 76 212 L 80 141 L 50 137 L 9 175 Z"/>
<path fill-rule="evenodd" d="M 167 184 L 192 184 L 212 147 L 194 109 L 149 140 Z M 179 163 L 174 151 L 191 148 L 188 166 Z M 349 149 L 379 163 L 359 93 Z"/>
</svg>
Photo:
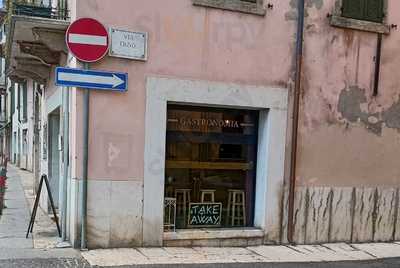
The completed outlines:
<svg viewBox="0 0 400 268">
<path fill-rule="evenodd" d="M 88 247 L 142 245 L 143 183 L 89 180 Z"/>
</svg>

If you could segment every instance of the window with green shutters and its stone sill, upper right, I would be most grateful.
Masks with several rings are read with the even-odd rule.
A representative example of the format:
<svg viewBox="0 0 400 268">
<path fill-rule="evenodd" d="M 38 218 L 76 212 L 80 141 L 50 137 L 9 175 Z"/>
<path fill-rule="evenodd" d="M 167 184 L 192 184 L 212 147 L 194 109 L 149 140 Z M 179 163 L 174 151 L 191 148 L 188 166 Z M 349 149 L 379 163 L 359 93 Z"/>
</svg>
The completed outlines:
<svg viewBox="0 0 400 268">
<path fill-rule="evenodd" d="M 386 24 L 388 0 L 336 0 L 330 16 L 334 27 L 389 34 Z"/>
</svg>

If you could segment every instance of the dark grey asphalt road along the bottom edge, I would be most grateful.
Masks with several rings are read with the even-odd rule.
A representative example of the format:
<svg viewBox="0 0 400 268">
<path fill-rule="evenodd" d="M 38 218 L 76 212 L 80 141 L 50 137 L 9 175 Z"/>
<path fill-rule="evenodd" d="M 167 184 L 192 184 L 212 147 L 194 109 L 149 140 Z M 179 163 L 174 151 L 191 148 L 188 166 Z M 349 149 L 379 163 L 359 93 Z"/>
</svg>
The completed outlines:
<svg viewBox="0 0 400 268">
<path fill-rule="evenodd" d="M 10 259 L 0 260 L 1 268 L 90 268 L 80 258 L 54 259 Z M 185 264 L 185 265 L 139 265 L 119 266 L 120 268 L 400 268 L 400 258 L 363 262 L 334 263 L 237 263 L 237 264 Z"/>
</svg>

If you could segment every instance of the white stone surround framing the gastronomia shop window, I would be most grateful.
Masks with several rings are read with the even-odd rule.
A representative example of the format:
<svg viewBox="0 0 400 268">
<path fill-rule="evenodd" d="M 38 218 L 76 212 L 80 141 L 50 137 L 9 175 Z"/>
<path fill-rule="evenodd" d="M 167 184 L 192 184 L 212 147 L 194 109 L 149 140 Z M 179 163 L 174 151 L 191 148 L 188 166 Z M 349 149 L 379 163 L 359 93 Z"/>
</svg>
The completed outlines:
<svg viewBox="0 0 400 268">
<path fill-rule="evenodd" d="M 143 245 L 162 246 L 165 239 L 163 199 L 168 103 L 260 111 L 254 229 L 262 230 L 266 236 L 279 230 L 280 193 L 284 184 L 287 89 L 148 77 L 145 112 Z M 225 238 L 243 235 L 243 229 L 238 229 L 236 232 L 232 229 L 220 232 L 226 232 L 226 235 L 221 233 L 218 235 Z M 196 237 L 195 232 L 191 237 Z M 170 235 L 168 238 L 182 239 L 180 235 Z"/>
</svg>

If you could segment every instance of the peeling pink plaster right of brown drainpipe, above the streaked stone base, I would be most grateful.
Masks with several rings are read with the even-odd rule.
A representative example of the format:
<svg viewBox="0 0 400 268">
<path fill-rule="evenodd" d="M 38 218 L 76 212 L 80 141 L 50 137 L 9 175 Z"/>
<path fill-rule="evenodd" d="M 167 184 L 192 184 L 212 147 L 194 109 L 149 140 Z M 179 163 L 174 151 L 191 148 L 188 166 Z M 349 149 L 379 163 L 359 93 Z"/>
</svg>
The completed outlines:
<svg viewBox="0 0 400 268">
<path fill-rule="evenodd" d="M 379 95 L 373 97 L 377 34 L 330 26 L 326 14 L 335 2 L 306 5 L 298 183 L 398 187 L 400 32 L 383 37 Z M 400 2 L 388 5 L 387 21 L 399 21 Z"/>
</svg>

